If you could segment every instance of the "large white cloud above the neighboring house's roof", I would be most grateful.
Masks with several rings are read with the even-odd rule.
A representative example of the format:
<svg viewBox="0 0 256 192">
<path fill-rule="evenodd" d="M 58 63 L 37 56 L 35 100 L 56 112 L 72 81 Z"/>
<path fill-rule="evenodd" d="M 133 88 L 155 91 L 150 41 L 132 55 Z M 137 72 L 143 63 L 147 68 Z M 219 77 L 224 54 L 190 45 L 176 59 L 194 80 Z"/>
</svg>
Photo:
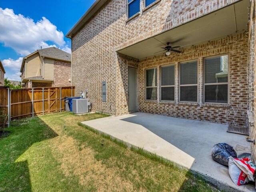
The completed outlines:
<svg viewBox="0 0 256 192">
<path fill-rule="evenodd" d="M 70 51 L 64 41 L 64 34 L 57 30 L 47 18 L 34 22 L 22 14 L 15 14 L 12 9 L 0 8 L 0 41 L 4 46 L 13 48 L 18 54 L 26 56 L 37 49 L 47 48 L 46 42 L 52 41 L 60 49 Z"/>
</svg>

